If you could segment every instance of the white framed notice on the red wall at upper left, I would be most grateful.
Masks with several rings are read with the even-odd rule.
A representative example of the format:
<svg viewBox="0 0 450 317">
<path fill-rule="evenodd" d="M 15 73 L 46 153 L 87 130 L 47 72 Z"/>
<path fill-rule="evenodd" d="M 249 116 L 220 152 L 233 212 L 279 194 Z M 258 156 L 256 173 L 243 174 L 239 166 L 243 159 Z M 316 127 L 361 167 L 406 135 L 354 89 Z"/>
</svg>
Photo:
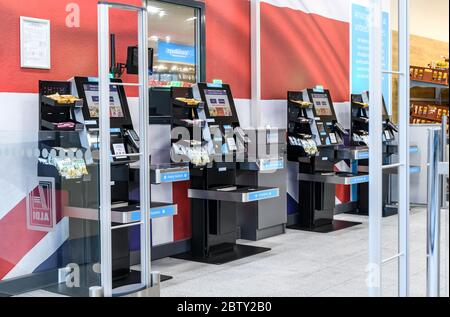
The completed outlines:
<svg viewBox="0 0 450 317">
<path fill-rule="evenodd" d="M 20 17 L 20 64 L 50 69 L 50 21 Z"/>
</svg>

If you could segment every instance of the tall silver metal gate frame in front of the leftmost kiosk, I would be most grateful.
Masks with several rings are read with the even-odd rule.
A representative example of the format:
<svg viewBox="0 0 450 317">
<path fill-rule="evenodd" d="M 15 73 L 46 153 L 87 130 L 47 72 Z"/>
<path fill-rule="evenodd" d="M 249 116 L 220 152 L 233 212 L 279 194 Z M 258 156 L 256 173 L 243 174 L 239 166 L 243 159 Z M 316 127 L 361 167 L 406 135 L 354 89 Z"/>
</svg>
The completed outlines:
<svg viewBox="0 0 450 317">
<path fill-rule="evenodd" d="M 110 153 L 110 40 L 109 9 L 134 11 L 138 14 L 139 83 L 123 84 L 139 87 L 139 134 L 140 134 L 140 225 L 141 232 L 141 284 L 130 285 L 126 293 L 148 289 L 151 277 L 150 239 L 150 152 L 148 144 L 148 16 L 146 6 L 133 6 L 113 2 L 98 2 L 98 77 L 99 77 L 99 130 L 100 130 L 100 246 L 101 283 L 105 297 L 125 295 L 112 289 L 112 239 L 111 239 L 111 153 Z"/>
</svg>

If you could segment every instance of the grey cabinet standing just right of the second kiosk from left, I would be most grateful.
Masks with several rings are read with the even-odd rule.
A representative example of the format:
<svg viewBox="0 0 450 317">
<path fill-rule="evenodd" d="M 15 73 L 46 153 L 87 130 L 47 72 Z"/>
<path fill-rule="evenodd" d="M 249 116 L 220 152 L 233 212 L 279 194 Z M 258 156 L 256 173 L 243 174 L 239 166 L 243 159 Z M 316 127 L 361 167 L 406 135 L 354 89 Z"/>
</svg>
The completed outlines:
<svg viewBox="0 0 450 317">
<path fill-rule="evenodd" d="M 257 241 L 286 232 L 286 130 L 259 128 L 245 133 L 248 146 L 245 161 L 238 164 L 237 184 L 280 191 L 277 198 L 237 206 L 240 238 Z"/>
</svg>

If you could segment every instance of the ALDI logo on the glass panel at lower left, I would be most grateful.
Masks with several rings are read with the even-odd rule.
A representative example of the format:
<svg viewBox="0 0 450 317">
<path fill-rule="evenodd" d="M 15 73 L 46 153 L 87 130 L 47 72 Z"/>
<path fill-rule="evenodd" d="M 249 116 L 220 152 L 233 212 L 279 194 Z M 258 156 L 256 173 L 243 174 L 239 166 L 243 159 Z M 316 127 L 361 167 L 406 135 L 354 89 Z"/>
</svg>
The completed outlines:
<svg viewBox="0 0 450 317">
<path fill-rule="evenodd" d="M 27 196 L 27 226 L 29 230 L 50 232 L 55 225 L 55 180 L 40 177 L 39 185 Z"/>
</svg>

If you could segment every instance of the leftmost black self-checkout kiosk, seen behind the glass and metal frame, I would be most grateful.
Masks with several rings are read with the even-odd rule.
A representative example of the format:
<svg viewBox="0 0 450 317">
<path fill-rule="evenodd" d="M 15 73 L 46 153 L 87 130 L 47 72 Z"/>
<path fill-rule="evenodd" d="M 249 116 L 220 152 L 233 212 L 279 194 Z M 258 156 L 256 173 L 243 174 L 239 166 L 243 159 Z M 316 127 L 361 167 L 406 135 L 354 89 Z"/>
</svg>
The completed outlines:
<svg viewBox="0 0 450 317">
<path fill-rule="evenodd" d="M 130 199 L 130 164 L 136 161 L 130 154 L 139 152 L 139 139 L 133 130 L 121 81 L 111 82 L 111 213 L 114 227 L 135 222 L 136 213 L 139 214 L 139 202 Z M 73 94 L 78 99 L 74 98 L 71 103 L 59 103 L 57 99 L 50 98 L 54 94 Z M 100 261 L 98 81 L 84 77 L 76 77 L 72 82 L 40 81 L 39 95 L 39 147 L 42 153 L 45 149 L 50 154 L 47 158 L 39 158 L 38 175 L 54 178 L 56 188 L 68 194 L 62 216 L 70 219 L 71 250 L 69 258 L 62 257 L 58 266 L 77 263 L 82 278 L 80 288 L 69 289 L 60 283 L 49 290 L 88 296 L 88 287 L 98 283 L 99 279 L 98 273 L 90 267 Z M 112 245 L 113 288 L 139 281 L 140 273 L 130 269 L 128 228 L 112 231 Z"/>
</svg>

